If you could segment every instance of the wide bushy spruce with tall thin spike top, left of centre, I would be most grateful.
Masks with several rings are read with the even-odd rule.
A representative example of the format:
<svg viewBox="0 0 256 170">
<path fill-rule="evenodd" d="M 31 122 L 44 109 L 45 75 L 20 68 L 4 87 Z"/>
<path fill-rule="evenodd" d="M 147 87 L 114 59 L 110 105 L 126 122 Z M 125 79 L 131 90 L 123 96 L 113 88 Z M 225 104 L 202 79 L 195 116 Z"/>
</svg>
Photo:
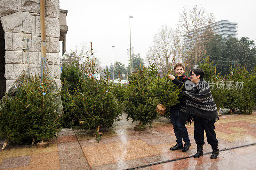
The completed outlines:
<svg viewBox="0 0 256 170">
<path fill-rule="evenodd" d="M 110 128 L 116 125 L 122 116 L 122 104 L 116 101 L 111 91 L 108 91 L 108 71 L 104 72 L 105 77 L 100 75 L 100 80 L 94 77 L 97 70 L 93 53 L 91 55 L 92 63 L 82 78 L 81 88 L 75 89 L 72 112 L 81 122 L 80 127 L 74 128 L 83 129 L 81 132 L 96 128 L 94 134 L 99 142 L 99 128 L 106 126 L 111 131 Z"/>
</svg>

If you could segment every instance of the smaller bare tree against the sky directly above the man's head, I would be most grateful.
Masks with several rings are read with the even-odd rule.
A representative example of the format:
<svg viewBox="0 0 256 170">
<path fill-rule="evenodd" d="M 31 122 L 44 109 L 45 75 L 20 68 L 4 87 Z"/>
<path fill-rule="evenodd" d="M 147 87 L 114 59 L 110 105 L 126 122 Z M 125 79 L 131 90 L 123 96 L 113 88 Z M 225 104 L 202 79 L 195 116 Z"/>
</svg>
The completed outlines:
<svg viewBox="0 0 256 170">
<path fill-rule="evenodd" d="M 153 45 L 149 47 L 147 59 L 152 60 L 153 56 L 160 67 L 161 72 L 171 67 L 173 60 L 174 31 L 167 25 L 162 25 L 155 33 Z"/>
</svg>

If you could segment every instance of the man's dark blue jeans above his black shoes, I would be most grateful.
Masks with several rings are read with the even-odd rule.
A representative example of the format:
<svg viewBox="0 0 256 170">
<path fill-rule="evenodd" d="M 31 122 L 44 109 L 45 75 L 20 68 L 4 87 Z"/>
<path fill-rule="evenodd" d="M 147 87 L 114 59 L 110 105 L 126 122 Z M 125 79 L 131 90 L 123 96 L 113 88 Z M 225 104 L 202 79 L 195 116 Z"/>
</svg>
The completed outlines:
<svg viewBox="0 0 256 170">
<path fill-rule="evenodd" d="M 188 138 L 188 131 L 185 126 L 186 122 L 184 120 L 179 119 L 180 110 L 170 110 L 171 112 L 171 121 L 173 125 L 173 131 L 176 136 L 176 142 L 178 145 L 183 146 L 183 141 L 188 143 L 190 140 Z"/>
</svg>

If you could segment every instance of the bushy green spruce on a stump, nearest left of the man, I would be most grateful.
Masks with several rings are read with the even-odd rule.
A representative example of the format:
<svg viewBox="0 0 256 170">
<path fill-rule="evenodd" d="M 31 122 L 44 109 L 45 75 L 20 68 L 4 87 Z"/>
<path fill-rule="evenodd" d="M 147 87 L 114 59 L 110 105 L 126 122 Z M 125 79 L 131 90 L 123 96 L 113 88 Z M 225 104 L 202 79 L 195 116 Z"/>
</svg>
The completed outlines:
<svg viewBox="0 0 256 170">
<path fill-rule="evenodd" d="M 127 120 L 131 117 L 132 122 L 140 121 L 139 127 L 144 129 L 146 124 L 152 127 L 153 119 L 158 118 L 156 113 L 156 101 L 150 92 L 148 69 L 140 67 L 131 75 L 129 86 L 124 97 L 124 112 Z"/>
</svg>

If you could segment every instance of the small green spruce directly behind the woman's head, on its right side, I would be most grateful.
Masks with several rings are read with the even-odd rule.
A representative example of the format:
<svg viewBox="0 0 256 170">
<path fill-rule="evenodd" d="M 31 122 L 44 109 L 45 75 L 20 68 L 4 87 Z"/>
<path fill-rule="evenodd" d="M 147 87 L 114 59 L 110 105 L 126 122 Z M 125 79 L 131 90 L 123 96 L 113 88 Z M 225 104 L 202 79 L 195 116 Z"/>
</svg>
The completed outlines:
<svg viewBox="0 0 256 170">
<path fill-rule="evenodd" d="M 214 74 L 214 66 L 212 65 L 213 61 L 209 61 L 209 55 L 207 56 L 205 54 L 205 58 L 203 58 L 203 62 L 199 63 L 199 68 L 202 68 L 204 70 L 204 81 L 209 82 L 212 78 L 212 75 Z"/>
</svg>

